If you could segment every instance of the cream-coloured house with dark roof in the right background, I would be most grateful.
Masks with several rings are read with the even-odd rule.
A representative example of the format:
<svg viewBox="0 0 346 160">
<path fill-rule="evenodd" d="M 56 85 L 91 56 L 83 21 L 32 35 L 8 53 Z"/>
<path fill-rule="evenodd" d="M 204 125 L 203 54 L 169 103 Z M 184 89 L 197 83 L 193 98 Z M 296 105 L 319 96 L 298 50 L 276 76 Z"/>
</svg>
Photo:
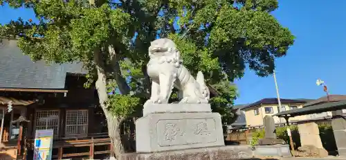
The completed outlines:
<svg viewBox="0 0 346 160">
<path fill-rule="evenodd" d="M 307 99 L 283 99 L 280 98 L 281 106 L 280 109 L 277 98 L 263 98 L 258 100 L 255 103 L 243 107 L 242 110 L 245 112 L 246 125 L 248 127 L 257 127 L 263 125 L 264 116 L 273 116 L 273 114 L 278 113 L 279 111 L 286 111 L 289 109 L 301 108 L 305 103 L 310 100 Z M 273 117 L 275 123 L 286 123 L 284 118 Z M 300 121 L 305 119 L 304 116 L 297 116 L 290 119 L 290 121 Z"/>
</svg>

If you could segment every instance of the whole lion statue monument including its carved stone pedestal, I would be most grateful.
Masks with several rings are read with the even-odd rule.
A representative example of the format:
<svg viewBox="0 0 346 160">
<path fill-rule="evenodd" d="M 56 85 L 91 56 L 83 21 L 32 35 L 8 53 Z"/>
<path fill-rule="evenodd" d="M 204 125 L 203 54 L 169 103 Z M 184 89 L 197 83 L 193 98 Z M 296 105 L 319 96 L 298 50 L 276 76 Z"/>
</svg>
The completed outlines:
<svg viewBox="0 0 346 160">
<path fill-rule="evenodd" d="M 151 98 L 143 106 L 143 117 L 136 121 L 136 153 L 122 159 L 251 157 L 252 153 L 244 154 L 247 148 L 241 152 L 224 146 L 221 116 L 211 112 L 203 73 L 197 73 L 196 79 L 191 75 L 172 40 L 151 42 L 149 57 Z M 168 104 L 173 87 L 179 89 L 179 102 Z"/>
</svg>

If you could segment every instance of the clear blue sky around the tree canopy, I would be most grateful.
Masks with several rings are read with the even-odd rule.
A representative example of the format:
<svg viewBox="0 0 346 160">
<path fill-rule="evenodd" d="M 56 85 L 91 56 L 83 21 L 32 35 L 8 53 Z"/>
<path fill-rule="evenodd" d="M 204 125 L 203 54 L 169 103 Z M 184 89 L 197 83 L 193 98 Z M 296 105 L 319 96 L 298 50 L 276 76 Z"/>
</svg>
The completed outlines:
<svg viewBox="0 0 346 160">
<path fill-rule="evenodd" d="M 281 98 L 320 98 L 321 78 L 330 94 L 346 94 L 346 1 L 280 0 L 273 15 L 295 35 L 286 57 L 276 60 L 276 77 Z M 10 19 L 35 17 L 31 10 L 0 7 L 0 24 Z M 345 69 L 345 70 L 344 70 Z M 259 78 L 253 71 L 236 80 L 239 98 L 235 104 L 275 98 L 273 76 Z"/>
</svg>

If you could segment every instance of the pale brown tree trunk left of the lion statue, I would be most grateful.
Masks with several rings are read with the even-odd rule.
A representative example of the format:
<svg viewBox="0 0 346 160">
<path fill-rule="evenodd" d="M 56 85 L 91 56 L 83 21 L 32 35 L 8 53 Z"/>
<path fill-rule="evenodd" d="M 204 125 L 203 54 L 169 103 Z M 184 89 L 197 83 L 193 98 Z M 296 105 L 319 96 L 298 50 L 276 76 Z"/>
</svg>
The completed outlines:
<svg viewBox="0 0 346 160">
<path fill-rule="evenodd" d="M 98 80 L 95 82 L 95 87 L 98 90 L 99 103 L 107 118 L 108 134 L 113 144 L 114 157 L 120 159 L 120 155 L 124 152 L 120 135 L 120 125 L 124 118 L 113 116 L 107 109 L 107 76 L 104 70 L 104 63 L 102 62 L 102 53 L 97 51 L 95 51 L 95 64 L 98 71 Z"/>
</svg>

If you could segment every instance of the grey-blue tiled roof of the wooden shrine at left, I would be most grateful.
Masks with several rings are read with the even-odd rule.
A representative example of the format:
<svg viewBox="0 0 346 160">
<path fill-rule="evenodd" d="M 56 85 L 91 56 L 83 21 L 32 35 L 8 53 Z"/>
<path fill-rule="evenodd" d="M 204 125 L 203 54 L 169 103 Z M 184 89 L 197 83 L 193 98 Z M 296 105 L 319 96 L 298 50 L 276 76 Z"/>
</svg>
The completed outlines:
<svg viewBox="0 0 346 160">
<path fill-rule="evenodd" d="M 17 47 L 16 39 L 2 39 L 0 46 L 0 88 L 64 89 L 66 73 L 86 73 L 81 63 L 33 62 Z"/>
</svg>

